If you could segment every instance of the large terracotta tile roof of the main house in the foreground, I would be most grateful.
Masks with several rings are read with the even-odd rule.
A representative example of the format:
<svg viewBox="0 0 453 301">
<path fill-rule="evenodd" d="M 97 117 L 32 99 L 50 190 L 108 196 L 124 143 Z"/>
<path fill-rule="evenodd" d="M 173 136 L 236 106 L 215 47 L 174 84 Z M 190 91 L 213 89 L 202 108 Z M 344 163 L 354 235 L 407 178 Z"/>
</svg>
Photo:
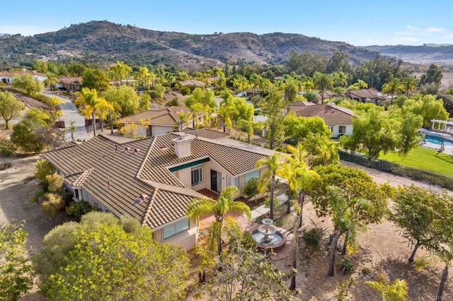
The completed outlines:
<svg viewBox="0 0 453 301">
<path fill-rule="evenodd" d="M 209 157 L 236 176 L 255 169 L 256 161 L 265 158 L 201 136 L 191 141 L 191 155 L 177 158 L 173 138 L 178 134 L 117 144 L 96 136 L 42 157 L 64 173 L 65 182 L 82 187 L 108 211 L 116 216 L 130 214 L 151 228 L 183 218 L 188 203 L 202 197 L 185 187 L 169 167 Z"/>
</svg>

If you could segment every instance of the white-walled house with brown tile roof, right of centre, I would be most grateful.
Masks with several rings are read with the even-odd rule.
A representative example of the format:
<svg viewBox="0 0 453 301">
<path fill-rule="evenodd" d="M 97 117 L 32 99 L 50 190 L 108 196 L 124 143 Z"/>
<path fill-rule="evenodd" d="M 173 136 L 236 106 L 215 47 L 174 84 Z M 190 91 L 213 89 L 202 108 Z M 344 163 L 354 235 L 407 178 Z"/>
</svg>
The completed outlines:
<svg viewBox="0 0 453 301">
<path fill-rule="evenodd" d="M 312 102 L 309 102 L 309 104 L 311 103 Z M 331 138 L 338 138 L 341 135 L 352 135 L 352 117 L 355 116 L 355 113 L 345 107 L 339 107 L 333 102 L 325 103 L 322 105 L 291 104 L 289 106 L 289 110 L 296 113 L 297 116 L 319 116 L 324 119 L 324 122 L 326 122 L 327 126 L 332 131 Z"/>
</svg>

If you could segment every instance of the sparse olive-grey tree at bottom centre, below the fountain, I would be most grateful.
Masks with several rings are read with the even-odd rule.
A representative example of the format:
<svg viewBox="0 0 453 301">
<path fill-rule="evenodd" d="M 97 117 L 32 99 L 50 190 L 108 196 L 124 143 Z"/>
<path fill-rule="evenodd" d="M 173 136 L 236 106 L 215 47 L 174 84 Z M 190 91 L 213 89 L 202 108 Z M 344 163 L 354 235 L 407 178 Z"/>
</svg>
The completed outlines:
<svg viewBox="0 0 453 301">
<path fill-rule="evenodd" d="M 292 300 L 286 275 L 275 270 L 265 254 L 238 247 L 224 252 L 219 269 L 198 287 L 210 300 Z"/>
</svg>

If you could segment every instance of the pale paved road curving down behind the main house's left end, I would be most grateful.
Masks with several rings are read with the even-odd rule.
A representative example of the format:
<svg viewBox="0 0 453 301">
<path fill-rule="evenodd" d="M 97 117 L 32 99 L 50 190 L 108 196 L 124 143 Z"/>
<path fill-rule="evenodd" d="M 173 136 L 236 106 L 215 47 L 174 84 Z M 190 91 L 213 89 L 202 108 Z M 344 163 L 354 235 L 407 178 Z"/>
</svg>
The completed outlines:
<svg viewBox="0 0 453 301">
<path fill-rule="evenodd" d="M 77 110 L 76 105 L 74 105 L 71 100 L 64 98 L 60 95 L 56 95 L 53 93 L 42 93 L 47 95 L 50 98 L 58 98 L 62 100 L 63 103 L 59 104 L 59 107 L 62 109 L 63 116 L 60 117 L 60 120 L 64 121 L 64 140 L 71 141 L 71 122 L 74 122 L 74 126 L 76 126 L 76 131 L 74 132 L 74 140 L 81 139 L 81 140 L 88 140 L 90 137 L 86 132 L 85 127 L 85 117 L 79 113 Z"/>
</svg>

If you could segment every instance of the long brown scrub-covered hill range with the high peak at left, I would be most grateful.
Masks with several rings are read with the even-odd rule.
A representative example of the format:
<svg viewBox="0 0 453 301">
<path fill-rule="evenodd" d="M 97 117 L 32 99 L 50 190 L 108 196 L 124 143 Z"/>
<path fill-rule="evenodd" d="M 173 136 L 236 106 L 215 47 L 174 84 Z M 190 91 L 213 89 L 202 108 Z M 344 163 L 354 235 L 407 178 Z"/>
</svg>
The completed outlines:
<svg viewBox="0 0 453 301">
<path fill-rule="evenodd" d="M 33 59 L 76 59 L 96 64 L 122 60 L 128 64 L 175 64 L 188 69 L 203 65 L 223 66 L 244 61 L 252 64 L 284 64 L 291 52 L 311 52 L 331 57 L 336 50 L 348 54 L 353 64 L 375 53 L 316 37 L 289 33 L 214 33 L 190 35 L 91 21 L 52 33 L 0 37 L 3 64 L 30 64 Z"/>
</svg>

